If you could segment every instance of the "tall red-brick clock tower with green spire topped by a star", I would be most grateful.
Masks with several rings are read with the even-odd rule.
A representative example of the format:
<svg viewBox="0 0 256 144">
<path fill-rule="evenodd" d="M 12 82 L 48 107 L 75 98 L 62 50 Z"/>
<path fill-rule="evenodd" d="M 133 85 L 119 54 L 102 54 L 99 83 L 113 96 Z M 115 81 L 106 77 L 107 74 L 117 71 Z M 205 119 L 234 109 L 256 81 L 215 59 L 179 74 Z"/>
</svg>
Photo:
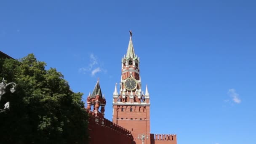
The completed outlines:
<svg viewBox="0 0 256 144">
<path fill-rule="evenodd" d="M 135 55 L 132 32 L 126 55 L 122 58 L 120 91 L 117 84 L 113 93 L 113 123 L 131 131 L 136 144 L 141 144 L 138 136 L 144 134 L 144 144 L 150 144 L 150 101 L 146 85 L 145 93 L 141 90 L 139 57 Z"/>
</svg>

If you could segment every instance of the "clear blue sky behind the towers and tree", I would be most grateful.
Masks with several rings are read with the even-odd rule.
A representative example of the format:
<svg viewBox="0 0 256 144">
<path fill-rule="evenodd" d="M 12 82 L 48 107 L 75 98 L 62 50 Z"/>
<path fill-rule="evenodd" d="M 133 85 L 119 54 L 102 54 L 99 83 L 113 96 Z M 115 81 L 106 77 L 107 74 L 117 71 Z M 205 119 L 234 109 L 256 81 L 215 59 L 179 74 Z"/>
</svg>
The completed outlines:
<svg viewBox="0 0 256 144">
<path fill-rule="evenodd" d="M 253 0 L 1 0 L 0 51 L 34 53 L 84 98 L 100 77 L 111 120 L 132 30 L 152 133 L 255 144 L 255 15 Z"/>
</svg>

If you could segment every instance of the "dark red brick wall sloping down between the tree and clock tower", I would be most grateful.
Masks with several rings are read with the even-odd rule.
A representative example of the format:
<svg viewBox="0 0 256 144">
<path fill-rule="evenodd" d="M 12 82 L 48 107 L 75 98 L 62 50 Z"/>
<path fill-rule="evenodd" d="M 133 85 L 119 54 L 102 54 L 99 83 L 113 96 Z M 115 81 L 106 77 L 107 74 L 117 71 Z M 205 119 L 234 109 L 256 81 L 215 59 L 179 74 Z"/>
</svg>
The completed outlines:
<svg viewBox="0 0 256 144">
<path fill-rule="evenodd" d="M 89 117 L 89 144 L 134 144 L 131 132 L 105 118 Z"/>
</svg>

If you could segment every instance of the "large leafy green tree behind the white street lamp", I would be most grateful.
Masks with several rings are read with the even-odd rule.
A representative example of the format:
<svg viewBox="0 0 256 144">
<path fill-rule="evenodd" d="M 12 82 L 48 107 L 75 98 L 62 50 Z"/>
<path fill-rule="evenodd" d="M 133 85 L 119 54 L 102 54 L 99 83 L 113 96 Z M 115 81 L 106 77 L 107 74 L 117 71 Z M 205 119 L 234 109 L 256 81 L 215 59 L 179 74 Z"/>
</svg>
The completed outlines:
<svg viewBox="0 0 256 144">
<path fill-rule="evenodd" d="M 86 144 L 87 118 L 83 93 L 74 93 L 63 75 L 33 54 L 20 59 L 0 59 L 0 78 L 16 83 L 8 88 L 0 107 L 0 144 Z M 7 82 L 7 83 L 8 83 Z"/>
</svg>

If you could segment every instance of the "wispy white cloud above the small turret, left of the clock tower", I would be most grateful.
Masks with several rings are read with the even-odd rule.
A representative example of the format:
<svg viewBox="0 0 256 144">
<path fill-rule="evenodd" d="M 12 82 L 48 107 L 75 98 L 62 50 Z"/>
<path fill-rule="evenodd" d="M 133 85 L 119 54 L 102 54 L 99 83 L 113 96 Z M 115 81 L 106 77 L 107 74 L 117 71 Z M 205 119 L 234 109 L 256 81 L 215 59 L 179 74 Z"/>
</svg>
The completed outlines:
<svg viewBox="0 0 256 144">
<path fill-rule="evenodd" d="M 84 74 L 90 72 L 91 76 L 94 76 L 96 73 L 101 71 L 103 71 L 104 73 L 107 72 L 107 70 L 101 67 L 101 63 L 93 53 L 90 54 L 90 63 L 88 64 L 88 67 L 82 67 L 79 69 L 79 72 L 83 72 Z"/>
</svg>

